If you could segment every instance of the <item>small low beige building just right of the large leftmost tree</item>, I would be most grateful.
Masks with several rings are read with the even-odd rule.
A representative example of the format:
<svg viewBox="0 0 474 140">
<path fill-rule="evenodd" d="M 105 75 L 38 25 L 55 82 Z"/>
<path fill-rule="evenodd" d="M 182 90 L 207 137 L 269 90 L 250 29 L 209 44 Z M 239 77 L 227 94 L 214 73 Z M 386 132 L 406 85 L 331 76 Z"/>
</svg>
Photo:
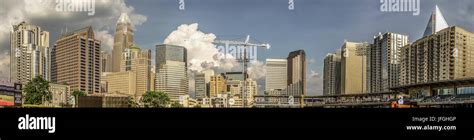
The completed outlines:
<svg viewBox="0 0 474 140">
<path fill-rule="evenodd" d="M 69 104 L 69 98 L 72 94 L 71 88 L 68 85 L 49 84 L 49 91 L 51 92 L 51 106 L 62 107 Z"/>
</svg>

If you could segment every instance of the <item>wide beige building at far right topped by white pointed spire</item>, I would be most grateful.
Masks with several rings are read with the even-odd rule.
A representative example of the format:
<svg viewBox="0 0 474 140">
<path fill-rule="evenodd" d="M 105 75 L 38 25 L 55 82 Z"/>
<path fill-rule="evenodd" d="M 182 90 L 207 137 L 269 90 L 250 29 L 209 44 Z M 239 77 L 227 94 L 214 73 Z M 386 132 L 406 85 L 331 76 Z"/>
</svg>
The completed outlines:
<svg viewBox="0 0 474 140">
<path fill-rule="evenodd" d="M 423 38 L 404 47 L 401 53 L 402 86 L 474 77 L 474 33 L 448 27 L 438 6 Z"/>
</svg>

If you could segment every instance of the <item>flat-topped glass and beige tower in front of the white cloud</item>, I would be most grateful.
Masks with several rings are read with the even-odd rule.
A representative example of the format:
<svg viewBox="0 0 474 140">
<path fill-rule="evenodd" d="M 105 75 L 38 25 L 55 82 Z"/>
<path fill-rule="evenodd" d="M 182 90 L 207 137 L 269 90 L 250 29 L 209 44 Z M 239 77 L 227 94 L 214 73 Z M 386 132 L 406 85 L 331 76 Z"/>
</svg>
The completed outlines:
<svg viewBox="0 0 474 140">
<path fill-rule="evenodd" d="M 188 95 L 187 50 L 176 45 L 156 45 L 156 90 L 178 101 Z"/>
</svg>

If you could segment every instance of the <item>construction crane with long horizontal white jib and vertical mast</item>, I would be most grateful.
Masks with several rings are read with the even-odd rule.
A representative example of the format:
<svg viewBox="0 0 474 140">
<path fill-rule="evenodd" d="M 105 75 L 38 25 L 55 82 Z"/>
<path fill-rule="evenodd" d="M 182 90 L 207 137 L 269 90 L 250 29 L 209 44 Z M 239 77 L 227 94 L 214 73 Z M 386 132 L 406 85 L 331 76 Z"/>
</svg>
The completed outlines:
<svg viewBox="0 0 474 140">
<path fill-rule="evenodd" d="M 250 43 L 250 35 L 247 35 L 245 38 L 245 41 L 237 41 L 237 40 L 214 40 L 215 44 L 225 44 L 226 46 L 229 45 L 235 45 L 239 47 L 244 47 L 244 52 L 243 52 L 243 57 L 242 59 L 239 59 L 238 61 L 243 64 L 243 69 L 242 69 L 242 75 L 244 76 L 244 84 L 243 84 L 243 90 L 242 90 L 242 102 L 243 102 L 243 107 L 247 107 L 247 66 L 249 59 L 247 58 L 247 49 L 249 47 L 262 47 L 266 49 L 270 49 L 270 44 L 268 43 L 263 43 L 263 44 L 254 44 Z"/>
</svg>

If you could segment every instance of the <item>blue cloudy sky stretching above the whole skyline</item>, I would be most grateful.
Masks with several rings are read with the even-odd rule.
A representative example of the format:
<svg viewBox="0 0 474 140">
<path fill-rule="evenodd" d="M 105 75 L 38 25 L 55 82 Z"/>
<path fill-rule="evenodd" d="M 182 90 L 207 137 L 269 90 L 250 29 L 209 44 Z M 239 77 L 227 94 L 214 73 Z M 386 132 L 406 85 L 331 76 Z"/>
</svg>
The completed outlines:
<svg viewBox="0 0 474 140">
<path fill-rule="evenodd" d="M 21 21 L 50 32 L 50 45 L 58 35 L 92 25 L 102 49 L 113 45 L 115 23 L 128 13 L 135 26 L 135 41 L 142 48 L 154 49 L 182 24 L 198 23 L 199 32 L 217 39 L 237 39 L 245 35 L 272 45 L 259 49 L 258 58 L 286 58 L 288 52 L 304 49 L 309 60 L 308 92 L 322 94 L 323 57 L 341 47 L 344 40 L 372 42 L 378 32 L 421 37 L 434 5 L 438 5 L 449 25 L 474 31 L 474 1 L 421 0 L 420 15 L 412 12 L 381 12 L 380 0 L 96 0 L 95 14 L 58 12 L 55 0 L 0 0 L 0 79 L 9 77 L 9 33 Z M 190 26 L 191 27 L 191 26 Z M 262 68 L 256 64 L 254 70 Z M 264 73 L 264 72 L 262 72 Z M 263 87 L 264 77 L 259 76 Z"/>
</svg>

